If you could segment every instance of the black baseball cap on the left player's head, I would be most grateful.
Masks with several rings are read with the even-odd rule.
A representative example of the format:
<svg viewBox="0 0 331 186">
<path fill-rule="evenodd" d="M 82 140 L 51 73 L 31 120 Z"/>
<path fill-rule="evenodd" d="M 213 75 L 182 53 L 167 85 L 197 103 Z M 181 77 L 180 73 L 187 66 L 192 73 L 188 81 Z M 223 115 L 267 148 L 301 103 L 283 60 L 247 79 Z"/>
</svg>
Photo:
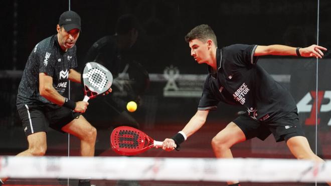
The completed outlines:
<svg viewBox="0 0 331 186">
<path fill-rule="evenodd" d="M 74 11 L 67 11 L 61 14 L 59 25 L 64 27 L 64 30 L 70 31 L 72 29 L 79 29 L 82 31 L 80 25 L 80 16 Z"/>
</svg>

